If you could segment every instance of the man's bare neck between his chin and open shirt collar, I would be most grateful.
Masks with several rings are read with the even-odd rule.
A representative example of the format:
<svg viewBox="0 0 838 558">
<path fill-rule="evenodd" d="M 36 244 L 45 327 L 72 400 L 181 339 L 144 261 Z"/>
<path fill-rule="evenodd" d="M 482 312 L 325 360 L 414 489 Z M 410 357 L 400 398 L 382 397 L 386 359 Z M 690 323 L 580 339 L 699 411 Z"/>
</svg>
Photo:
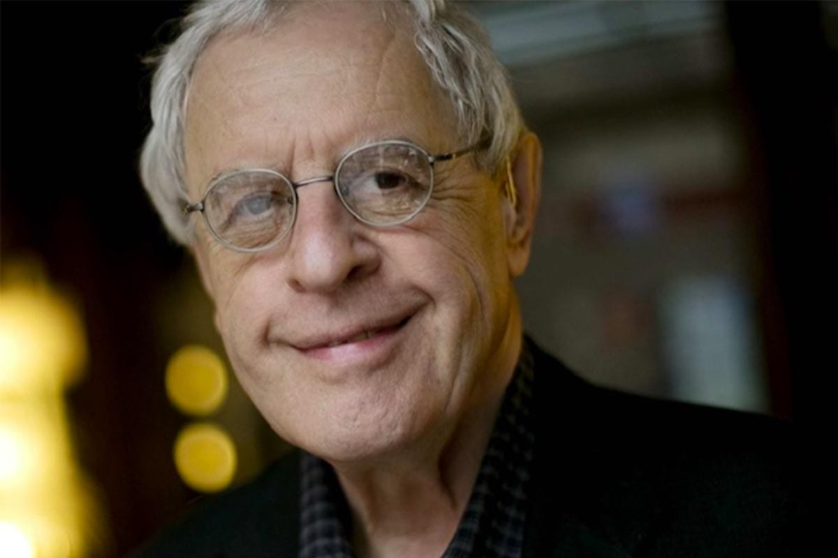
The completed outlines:
<svg viewBox="0 0 838 558">
<path fill-rule="evenodd" d="M 353 547 L 363 558 L 442 555 L 477 479 L 520 354 L 520 319 L 510 317 L 490 386 L 458 423 L 385 462 L 332 463 L 353 520 Z M 488 366 L 488 365 L 487 365 Z"/>
</svg>

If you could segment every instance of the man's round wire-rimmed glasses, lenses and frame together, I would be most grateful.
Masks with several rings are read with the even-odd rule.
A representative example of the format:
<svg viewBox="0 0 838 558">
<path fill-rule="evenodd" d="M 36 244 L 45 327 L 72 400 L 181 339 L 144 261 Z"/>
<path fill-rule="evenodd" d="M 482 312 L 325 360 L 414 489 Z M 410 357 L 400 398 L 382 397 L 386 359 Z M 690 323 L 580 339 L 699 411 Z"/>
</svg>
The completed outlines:
<svg viewBox="0 0 838 558">
<path fill-rule="evenodd" d="M 279 243 L 297 217 L 297 188 L 332 182 L 346 210 L 362 223 L 406 223 L 427 205 L 437 162 L 484 148 L 480 141 L 453 153 L 431 155 L 408 141 L 380 141 L 349 151 L 334 175 L 291 182 L 271 169 L 225 172 L 209 183 L 204 198 L 184 214 L 201 212 L 209 232 L 228 248 L 261 252 Z"/>
</svg>

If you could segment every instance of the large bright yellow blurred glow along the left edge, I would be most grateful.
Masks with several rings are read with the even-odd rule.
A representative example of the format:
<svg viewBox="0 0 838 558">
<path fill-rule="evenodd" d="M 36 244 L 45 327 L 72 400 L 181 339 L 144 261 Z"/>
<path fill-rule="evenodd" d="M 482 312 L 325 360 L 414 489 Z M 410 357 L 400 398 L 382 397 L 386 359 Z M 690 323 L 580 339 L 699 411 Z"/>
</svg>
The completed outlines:
<svg viewBox="0 0 838 558">
<path fill-rule="evenodd" d="M 87 359 L 70 299 L 37 259 L 3 268 L 0 289 L 0 556 L 82 558 L 104 527 L 75 463 L 65 388 Z"/>
</svg>

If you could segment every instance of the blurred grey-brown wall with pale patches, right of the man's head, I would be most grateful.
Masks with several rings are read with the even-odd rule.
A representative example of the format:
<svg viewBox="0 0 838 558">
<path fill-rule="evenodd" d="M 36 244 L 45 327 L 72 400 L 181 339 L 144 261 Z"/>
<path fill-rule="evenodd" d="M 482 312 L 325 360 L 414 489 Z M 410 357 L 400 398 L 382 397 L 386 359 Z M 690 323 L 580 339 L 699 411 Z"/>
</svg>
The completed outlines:
<svg viewBox="0 0 838 558">
<path fill-rule="evenodd" d="M 544 143 L 518 282 L 535 339 L 598 383 L 787 414 L 764 346 L 766 185 L 725 5 L 472 5 Z"/>
</svg>

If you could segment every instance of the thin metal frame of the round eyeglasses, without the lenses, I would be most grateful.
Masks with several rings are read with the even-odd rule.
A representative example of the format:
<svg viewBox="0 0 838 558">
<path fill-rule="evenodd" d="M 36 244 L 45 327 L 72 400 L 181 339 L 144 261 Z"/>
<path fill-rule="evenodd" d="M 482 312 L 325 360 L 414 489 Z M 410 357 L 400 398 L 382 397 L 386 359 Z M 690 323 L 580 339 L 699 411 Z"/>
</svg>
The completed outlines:
<svg viewBox="0 0 838 558">
<path fill-rule="evenodd" d="M 221 244 L 223 244 L 227 248 L 230 248 L 231 250 L 235 250 L 236 252 L 246 252 L 246 253 L 264 252 L 264 251 L 266 251 L 270 248 L 273 248 L 278 243 L 280 243 L 282 241 L 282 238 L 285 238 L 287 233 L 289 231 L 291 231 L 292 228 L 294 228 L 294 224 L 297 222 L 297 207 L 298 207 L 298 203 L 299 203 L 299 201 L 297 199 L 297 188 L 301 188 L 303 186 L 308 186 L 309 184 L 317 184 L 318 182 L 332 182 L 332 184 L 334 185 L 334 190 L 335 190 L 335 192 L 337 192 L 341 204 L 346 208 L 346 211 L 351 213 L 352 216 L 354 218 L 358 219 L 361 223 L 366 223 L 366 224 L 371 225 L 373 227 L 381 227 L 381 228 L 395 227 L 396 225 L 401 225 L 403 223 L 406 223 L 406 222 L 410 221 L 412 218 L 416 217 L 416 215 L 419 212 L 422 212 L 422 209 L 424 209 L 425 206 L 427 206 L 427 202 L 428 202 L 429 199 L 431 199 L 431 194 L 433 192 L 434 163 L 442 162 L 442 161 L 453 161 L 454 159 L 458 159 L 459 157 L 461 157 L 463 155 L 468 155 L 468 153 L 471 153 L 472 151 L 478 151 L 479 149 L 484 149 L 488 145 L 489 145 L 489 139 L 484 138 L 483 140 L 478 141 L 477 143 L 475 143 L 471 146 L 468 146 L 464 149 L 461 149 L 459 151 L 452 151 L 450 153 L 437 153 L 436 155 L 432 155 L 432 154 L 428 153 L 425 149 L 422 149 L 422 147 L 417 146 L 415 143 L 411 143 L 410 141 L 401 141 L 401 140 L 375 141 L 373 143 L 368 143 L 364 146 L 355 147 L 352 151 L 347 152 L 343 157 L 340 158 L 340 161 L 338 162 L 338 166 L 335 168 L 333 174 L 328 175 L 328 176 L 323 176 L 323 177 L 306 178 L 304 180 L 300 180 L 300 181 L 297 181 L 297 182 L 291 182 L 291 180 L 288 177 L 286 177 L 284 174 L 282 174 L 282 172 L 275 171 L 273 169 L 266 169 L 266 168 L 236 169 L 235 171 L 229 171 L 229 172 L 222 173 L 219 177 L 215 177 L 211 182 L 209 182 L 209 186 L 207 187 L 206 192 L 204 192 L 204 197 L 202 197 L 199 202 L 195 202 L 195 203 L 187 202 L 186 204 L 184 204 L 184 215 L 189 216 L 189 214 L 192 213 L 192 212 L 200 212 L 201 215 L 204 216 L 204 223 L 206 224 L 207 228 L 209 229 L 209 233 L 211 233 L 217 241 L 219 241 Z M 349 203 L 344 199 L 344 195 L 340 192 L 340 184 L 337 180 L 337 177 L 340 176 L 341 168 L 343 168 L 344 163 L 349 159 L 349 157 L 353 156 L 355 153 L 358 153 L 359 151 L 364 151 L 365 149 L 369 149 L 370 147 L 375 147 L 375 146 L 408 146 L 408 147 L 411 147 L 412 149 L 415 149 L 416 151 L 419 151 L 423 156 L 427 157 L 428 166 L 430 166 L 430 169 L 431 169 L 431 173 L 430 173 L 430 182 L 431 183 L 428 186 L 427 195 L 425 196 L 425 199 L 422 200 L 422 203 L 419 204 L 419 206 L 416 207 L 416 209 L 413 212 L 409 213 L 404 218 L 401 218 L 398 221 L 395 221 L 393 223 L 384 223 L 384 224 L 373 223 L 373 222 L 371 222 L 371 221 L 369 221 L 365 218 L 362 218 L 357 212 L 354 211 L 354 209 L 352 207 L 349 207 Z M 222 238 L 219 233 L 215 232 L 215 228 L 213 228 L 213 226 L 209 223 L 209 219 L 207 218 L 206 212 L 204 212 L 204 208 L 206 207 L 206 205 L 205 205 L 206 199 L 207 199 L 207 197 L 209 197 L 209 194 L 212 193 L 213 188 L 215 188 L 218 184 L 220 184 L 226 178 L 229 178 L 229 177 L 231 177 L 235 174 L 238 174 L 240 172 L 266 172 L 266 173 L 269 173 L 269 174 L 273 174 L 277 177 L 280 177 L 284 182 L 287 183 L 287 185 L 291 189 L 292 199 L 293 199 L 293 214 L 291 216 L 291 224 L 284 231 L 282 231 L 281 234 L 277 235 L 277 238 L 274 238 L 270 243 L 267 243 L 265 246 L 260 246 L 258 248 L 241 248 L 241 246 L 235 246 L 235 244 L 232 244 L 232 243 L 228 242 L 227 240 L 225 240 L 225 238 Z"/>
</svg>

